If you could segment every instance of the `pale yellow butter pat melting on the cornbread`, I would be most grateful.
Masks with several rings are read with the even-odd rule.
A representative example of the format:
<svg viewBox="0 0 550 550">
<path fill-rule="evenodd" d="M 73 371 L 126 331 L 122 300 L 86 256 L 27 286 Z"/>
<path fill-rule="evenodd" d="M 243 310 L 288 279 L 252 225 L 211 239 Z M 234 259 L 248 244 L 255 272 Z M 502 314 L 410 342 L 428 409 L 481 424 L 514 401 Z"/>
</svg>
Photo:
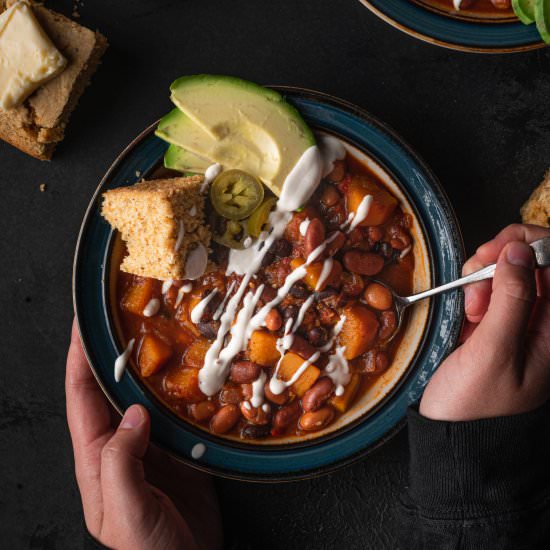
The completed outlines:
<svg viewBox="0 0 550 550">
<path fill-rule="evenodd" d="M 66 65 L 26 2 L 0 14 L 0 109 L 20 105 Z"/>
</svg>

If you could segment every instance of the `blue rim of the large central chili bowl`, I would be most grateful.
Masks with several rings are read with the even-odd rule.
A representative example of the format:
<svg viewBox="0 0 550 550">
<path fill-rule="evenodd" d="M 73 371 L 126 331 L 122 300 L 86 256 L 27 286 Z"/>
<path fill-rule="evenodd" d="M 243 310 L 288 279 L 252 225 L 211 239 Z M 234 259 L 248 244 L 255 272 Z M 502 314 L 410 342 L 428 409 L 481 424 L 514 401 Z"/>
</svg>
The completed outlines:
<svg viewBox="0 0 550 550">
<path fill-rule="evenodd" d="M 389 172 L 417 210 L 430 250 L 432 282 L 441 284 L 458 277 L 464 249 L 456 216 L 442 187 L 412 149 L 386 125 L 355 105 L 311 90 L 275 88 L 312 126 L 340 135 Z M 133 403 L 146 406 L 151 413 L 153 443 L 194 468 L 222 477 L 292 481 L 332 472 L 372 452 L 403 427 L 408 405 L 419 399 L 439 363 L 456 346 L 463 321 L 460 291 L 432 300 L 423 344 L 408 371 L 377 407 L 341 430 L 305 444 L 276 448 L 235 444 L 181 420 L 160 405 L 130 369 L 120 383 L 114 381 L 112 366 L 120 346 L 105 294 L 113 232 L 100 216 L 100 196 L 108 188 L 135 183 L 158 165 L 166 145 L 154 136 L 154 128 L 155 124 L 142 132 L 101 180 L 86 211 L 76 247 L 74 308 L 85 353 L 107 398 L 119 413 Z M 200 461 L 190 458 L 197 443 L 207 446 Z"/>
</svg>

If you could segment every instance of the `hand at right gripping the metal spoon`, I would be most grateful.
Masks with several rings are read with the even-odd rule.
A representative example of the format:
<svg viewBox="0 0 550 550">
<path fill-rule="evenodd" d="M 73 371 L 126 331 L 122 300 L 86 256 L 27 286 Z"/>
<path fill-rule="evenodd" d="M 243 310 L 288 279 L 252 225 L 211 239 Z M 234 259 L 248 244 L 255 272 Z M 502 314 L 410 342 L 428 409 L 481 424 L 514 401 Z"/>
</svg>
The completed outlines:
<svg viewBox="0 0 550 550">
<path fill-rule="evenodd" d="M 550 235 L 510 225 L 480 246 L 468 274 L 497 262 L 492 280 L 464 289 L 463 343 L 437 369 L 420 402 L 434 420 L 527 412 L 550 398 L 550 268 L 534 269 L 526 244 Z"/>
</svg>

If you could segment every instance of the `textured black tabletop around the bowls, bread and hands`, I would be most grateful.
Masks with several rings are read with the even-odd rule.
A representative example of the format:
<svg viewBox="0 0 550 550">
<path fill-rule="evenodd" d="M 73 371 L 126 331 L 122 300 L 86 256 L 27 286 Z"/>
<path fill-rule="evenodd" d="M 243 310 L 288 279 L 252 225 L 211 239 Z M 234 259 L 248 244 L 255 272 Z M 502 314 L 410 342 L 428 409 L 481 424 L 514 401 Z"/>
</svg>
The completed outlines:
<svg viewBox="0 0 550 550">
<path fill-rule="evenodd" d="M 50 7 L 70 14 L 69 0 Z M 441 179 L 468 252 L 550 165 L 550 50 L 481 56 L 394 30 L 357 0 L 85 0 L 111 47 L 52 163 L 0 144 L 0 547 L 80 547 L 65 420 L 71 268 L 89 198 L 119 151 L 165 113 L 181 74 L 314 88 L 387 122 Z M 47 184 L 41 193 L 39 185 Z M 405 431 L 330 477 L 218 483 L 234 548 L 394 549 Z"/>
</svg>

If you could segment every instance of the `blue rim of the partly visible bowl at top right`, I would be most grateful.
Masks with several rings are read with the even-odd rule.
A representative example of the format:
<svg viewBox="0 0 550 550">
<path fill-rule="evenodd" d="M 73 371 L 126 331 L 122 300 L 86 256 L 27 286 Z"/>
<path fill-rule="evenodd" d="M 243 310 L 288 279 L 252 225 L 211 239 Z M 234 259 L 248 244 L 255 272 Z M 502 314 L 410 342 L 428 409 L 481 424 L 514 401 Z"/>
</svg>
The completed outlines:
<svg viewBox="0 0 550 550">
<path fill-rule="evenodd" d="M 424 42 L 452 50 L 511 53 L 545 47 L 536 25 L 521 21 L 461 19 L 419 6 L 411 0 L 359 0 L 393 27 Z"/>
</svg>

